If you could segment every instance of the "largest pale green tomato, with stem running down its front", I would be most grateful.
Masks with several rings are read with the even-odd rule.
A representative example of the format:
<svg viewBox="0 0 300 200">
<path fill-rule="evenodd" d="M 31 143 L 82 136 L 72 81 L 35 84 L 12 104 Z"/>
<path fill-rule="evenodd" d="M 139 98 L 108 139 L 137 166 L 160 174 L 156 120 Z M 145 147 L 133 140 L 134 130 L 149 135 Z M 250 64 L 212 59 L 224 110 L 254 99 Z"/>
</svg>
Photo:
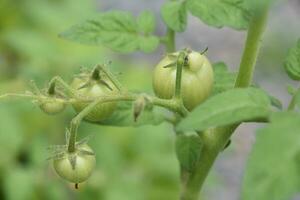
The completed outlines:
<svg viewBox="0 0 300 200">
<path fill-rule="evenodd" d="M 171 99 L 175 93 L 176 66 L 165 67 L 174 63 L 174 57 L 164 57 L 155 67 L 153 74 L 153 88 L 155 94 L 163 99 Z M 193 110 L 201 104 L 211 93 L 213 87 L 213 69 L 206 58 L 198 52 L 190 52 L 187 56 L 187 65 L 182 69 L 181 95 L 184 106 Z"/>
</svg>

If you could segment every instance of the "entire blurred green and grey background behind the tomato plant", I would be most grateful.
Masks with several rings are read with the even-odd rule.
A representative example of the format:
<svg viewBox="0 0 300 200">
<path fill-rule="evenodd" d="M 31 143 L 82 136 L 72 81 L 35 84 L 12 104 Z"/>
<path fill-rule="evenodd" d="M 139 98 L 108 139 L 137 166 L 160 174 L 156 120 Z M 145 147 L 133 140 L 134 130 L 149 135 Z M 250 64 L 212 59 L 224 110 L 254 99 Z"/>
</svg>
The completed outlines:
<svg viewBox="0 0 300 200">
<path fill-rule="evenodd" d="M 126 3 L 125 3 L 126 2 Z M 103 47 L 83 46 L 64 41 L 57 34 L 73 24 L 93 17 L 101 10 L 125 9 L 138 14 L 153 9 L 159 19 L 163 1 L 104 0 L 2 0 L 0 2 L 0 94 L 23 92 L 29 80 L 44 87 L 55 75 L 70 81 L 80 66 L 112 60 L 113 70 L 129 89 L 152 92 L 151 68 L 157 54 L 118 55 Z M 299 36 L 299 2 L 277 5 L 271 12 L 262 55 L 255 79 L 283 102 L 287 76 L 282 59 Z M 298 13 L 298 14 L 297 14 Z M 290 20 L 294 19 L 294 20 Z M 286 23 L 286 22 L 289 23 Z M 165 29 L 158 23 L 158 34 Z M 199 38 L 199 35 L 201 36 Z M 178 46 L 204 49 L 213 61 L 224 60 L 236 69 L 245 33 L 209 28 L 190 18 Z M 266 77 L 269 82 L 266 82 Z M 292 83 L 293 84 L 293 83 Z M 140 128 L 101 127 L 82 123 L 79 137 L 90 134 L 97 169 L 80 186 L 60 179 L 46 160 L 47 146 L 64 143 L 64 132 L 74 112 L 58 116 L 43 114 L 26 100 L 0 104 L 0 199 L 1 200 L 171 200 L 179 194 L 179 168 L 174 154 L 174 133 L 168 124 Z M 203 199 L 239 199 L 246 156 L 256 126 L 242 126 L 233 145 L 218 160 L 205 186 Z"/>
</svg>

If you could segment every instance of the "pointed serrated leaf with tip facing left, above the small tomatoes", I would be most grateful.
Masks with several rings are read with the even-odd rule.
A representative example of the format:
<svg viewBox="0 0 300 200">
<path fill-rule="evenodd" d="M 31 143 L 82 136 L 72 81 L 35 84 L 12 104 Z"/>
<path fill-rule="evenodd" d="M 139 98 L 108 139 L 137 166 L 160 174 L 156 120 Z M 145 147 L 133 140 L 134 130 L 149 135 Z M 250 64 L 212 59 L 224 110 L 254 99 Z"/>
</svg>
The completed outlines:
<svg viewBox="0 0 300 200">
<path fill-rule="evenodd" d="M 138 23 L 132 14 L 121 11 L 102 13 L 97 19 L 71 27 L 60 34 L 61 37 L 88 45 L 104 45 L 114 51 L 131 53 L 137 50 L 150 52 L 158 47 L 158 38 L 153 35 L 145 35 L 145 31 L 152 28 L 151 17 L 140 16 Z M 147 18 L 147 19 L 146 19 Z M 147 23 L 147 24 L 146 24 Z M 143 33 L 139 29 L 143 29 Z M 147 43 L 147 47 L 140 45 L 141 38 Z M 154 44 L 150 44 L 154 42 Z M 150 47 L 149 47 L 150 46 Z"/>
</svg>

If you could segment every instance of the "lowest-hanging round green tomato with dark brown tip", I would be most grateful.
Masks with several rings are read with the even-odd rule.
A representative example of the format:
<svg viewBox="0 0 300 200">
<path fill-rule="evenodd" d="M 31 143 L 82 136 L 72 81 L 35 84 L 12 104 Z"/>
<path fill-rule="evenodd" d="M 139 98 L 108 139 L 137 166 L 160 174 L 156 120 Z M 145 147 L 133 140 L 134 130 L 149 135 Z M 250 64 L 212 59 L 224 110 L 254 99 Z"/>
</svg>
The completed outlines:
<svg viewBox="0 0 300 200">
<path fill-rule="evenodd" d="M 65 152 L 65 156 L 61 159 L 53 160 L 53 167 L 56 173 L 63 179 L 71 183 L 82 183 L 86 181 L 92 174 L 95 166 L 95 155 L 84 154 L 82 152 L 93 153 L 93 150 L 86 144 L 79 146 L 75 152 Z M 72 166 L 70 157 L 75 158 L 74 166 Z"/>
</svg>

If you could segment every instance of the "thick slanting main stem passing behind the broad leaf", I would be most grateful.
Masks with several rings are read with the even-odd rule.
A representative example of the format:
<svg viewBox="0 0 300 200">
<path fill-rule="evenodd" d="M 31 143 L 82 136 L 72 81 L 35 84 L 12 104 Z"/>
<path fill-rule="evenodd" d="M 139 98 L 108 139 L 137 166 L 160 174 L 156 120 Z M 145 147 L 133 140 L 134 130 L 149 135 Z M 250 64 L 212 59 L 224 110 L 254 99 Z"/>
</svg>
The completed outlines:
<svg viewBox="0 0 300 200">
<path fill-rule="evenodd" d="M 267 21 L 267 14 L 268 6 L 266 6 L 261 13 L 253 16 L 250 22 L 235 87 L 248 87 L 251 84 L 261 43 L 261 36 Z M 196 170 L 190 174 L 189 180 L 185 184 L 185 189 L 182 190 L 182 192 L 184 192 L 184 194 L 181 195 L 182 200 L 198 199 L 203 183 L 218 154 L 222 151 L 237 127 L 238 125 L 231 125 L 222 128 L 213 128 L 199 133 L 199 137 L 201 137 L 203 142 L 201 157 Z"/>
</svg>

